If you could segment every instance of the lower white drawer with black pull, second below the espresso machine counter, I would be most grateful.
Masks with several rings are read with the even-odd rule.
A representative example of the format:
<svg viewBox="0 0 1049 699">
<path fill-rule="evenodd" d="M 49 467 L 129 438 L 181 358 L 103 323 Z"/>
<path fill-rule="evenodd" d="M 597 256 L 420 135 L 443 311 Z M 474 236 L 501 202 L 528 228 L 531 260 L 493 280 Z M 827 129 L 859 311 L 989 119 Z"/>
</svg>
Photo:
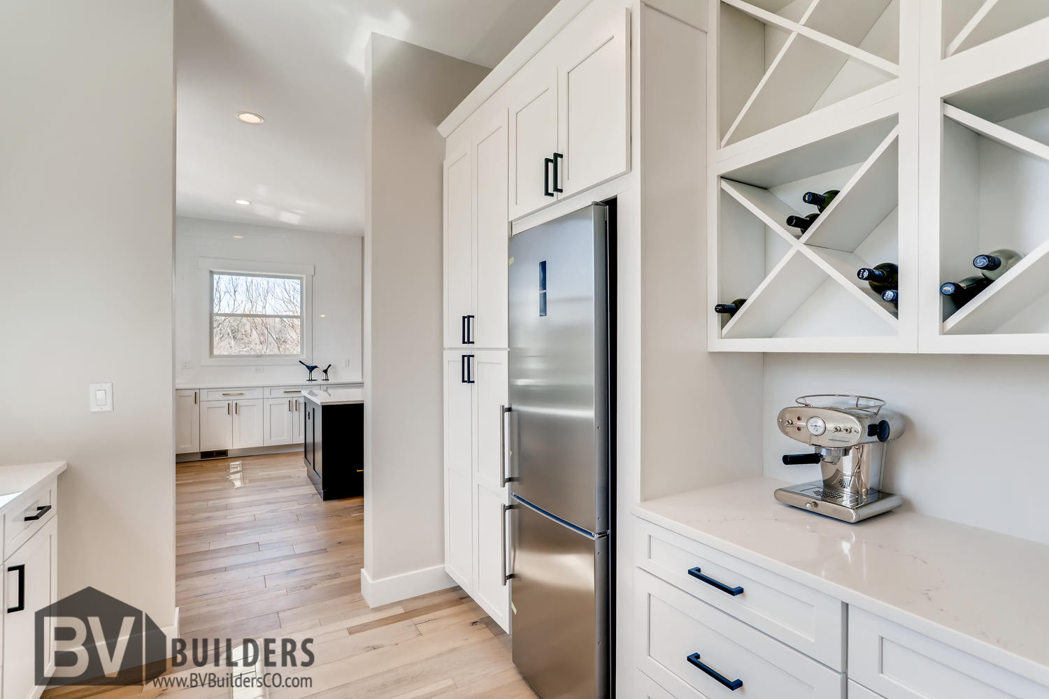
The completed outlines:
<svg viewBox="0 0 1049 699">
<path fill-rule="evenodd" d="M 637 583 L 637 665 L 680 699 L 728 697 L 736 680 L 740 696 L 844 697 L 843 675 L 643 570 Z"/>
</svg>

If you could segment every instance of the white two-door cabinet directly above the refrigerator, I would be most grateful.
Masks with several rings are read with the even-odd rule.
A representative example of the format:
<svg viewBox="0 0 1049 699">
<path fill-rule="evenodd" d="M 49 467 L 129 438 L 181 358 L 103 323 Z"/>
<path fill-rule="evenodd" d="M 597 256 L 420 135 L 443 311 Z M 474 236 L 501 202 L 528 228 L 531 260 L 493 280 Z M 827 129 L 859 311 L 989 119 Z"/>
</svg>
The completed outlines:
<svg viewBox="0 0 1049 699">
<path fill-rule="evenodd" d="M 629 31 L 593 3 L 509 83 L 511 219 L 629 170 Z"/>
</svg>

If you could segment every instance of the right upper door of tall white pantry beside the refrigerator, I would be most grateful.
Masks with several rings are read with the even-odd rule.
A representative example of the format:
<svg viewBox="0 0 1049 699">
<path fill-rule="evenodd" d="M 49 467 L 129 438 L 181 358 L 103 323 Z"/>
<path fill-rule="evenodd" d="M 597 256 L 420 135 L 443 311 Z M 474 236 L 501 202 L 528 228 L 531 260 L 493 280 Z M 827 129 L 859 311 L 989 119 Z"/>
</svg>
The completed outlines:
<svg viewBox="0 0 1049 699">
<path fill-rule="evenodd" d="M 477 241 L 477 318 L 472 325 L 477 347 L 507 346 L 507 112 L 480 128 L 473 138 L 474 221 Z"/>
</svg>

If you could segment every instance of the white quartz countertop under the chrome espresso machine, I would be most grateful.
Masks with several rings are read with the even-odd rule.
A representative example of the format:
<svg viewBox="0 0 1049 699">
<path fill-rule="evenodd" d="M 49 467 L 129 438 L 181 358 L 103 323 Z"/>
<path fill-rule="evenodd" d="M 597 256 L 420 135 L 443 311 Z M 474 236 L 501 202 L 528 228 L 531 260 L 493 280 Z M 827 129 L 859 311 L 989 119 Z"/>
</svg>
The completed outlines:
<svg viewBox="0 0 1049 699">
<path fill-rule="evenodd" d="M 786 484 L 751 478 L 631 510 L 1049 685 L 1049 546 L 899 510 L 845 524 L 776 502 Z M 1016 506 L 1044 511 L 1031 495 Z"/>
</svg>

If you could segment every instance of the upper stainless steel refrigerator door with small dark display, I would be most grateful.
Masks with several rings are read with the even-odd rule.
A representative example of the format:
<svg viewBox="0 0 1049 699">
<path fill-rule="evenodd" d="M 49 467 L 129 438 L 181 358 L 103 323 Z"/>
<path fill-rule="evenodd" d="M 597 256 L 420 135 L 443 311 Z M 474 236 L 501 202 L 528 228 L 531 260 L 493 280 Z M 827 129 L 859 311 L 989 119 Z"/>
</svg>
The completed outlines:
<svg viewBox="0 0 1049 699">
<path fill-rule="evenodd" d="M 510 240 L 513 494 L 608 528 L 607 207 Z"/>
</svg>

